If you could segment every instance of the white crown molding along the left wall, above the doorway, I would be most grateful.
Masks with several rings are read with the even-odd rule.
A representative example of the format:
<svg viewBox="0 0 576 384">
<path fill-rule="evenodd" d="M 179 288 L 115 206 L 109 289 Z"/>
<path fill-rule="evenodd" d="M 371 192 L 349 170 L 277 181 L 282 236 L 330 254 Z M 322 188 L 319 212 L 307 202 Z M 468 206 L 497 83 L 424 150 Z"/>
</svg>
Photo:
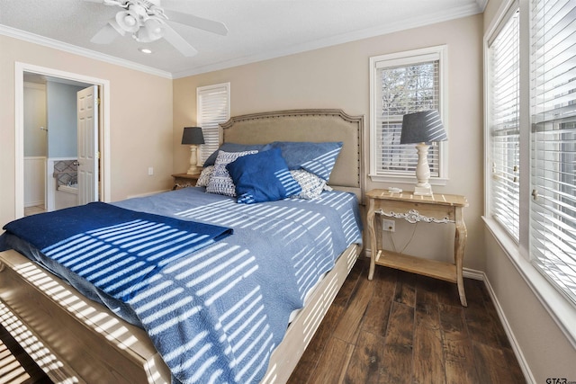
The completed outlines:
<svg viewBox="0 0 576 384">
<path fill-rule="evenodd" d="M 27 31 L 17 30 L 15 28 L 8 27 L 3 24 L 0 24 L 0 34 L 11 38 L 28 41 L 44 47 L 63 50 L 69 53 L 73 53 L 75 55 L 83 56 L 85 58 L 94 58 L 95 60 L 100 60 L 105 63 L 113 64 L 120 67 L 134 69 L 140 72 L 148 73 L 150 75 L 172 78 L 172 74 L 170 74 L 169 72 L 154 67 L 143 66 L 130 60 L 124 60 L 122 58 L 115 58 L 110 55 L 104 55 L 103 53 L 96 52 L 91 49 L 80 48 L 77 47 L 76 45 L 68 44 L 54 39 L 49 39 L 47 37 L 40 36 Z"/>
</svg>

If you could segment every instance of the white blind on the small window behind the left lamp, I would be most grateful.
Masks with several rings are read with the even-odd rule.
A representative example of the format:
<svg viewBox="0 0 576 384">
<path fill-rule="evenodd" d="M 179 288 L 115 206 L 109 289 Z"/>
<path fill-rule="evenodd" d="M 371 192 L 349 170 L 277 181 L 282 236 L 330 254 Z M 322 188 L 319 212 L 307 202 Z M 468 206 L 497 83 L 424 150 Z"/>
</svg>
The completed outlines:
<svg viewBox="0 0 576 384">
<path fill-rule="evenodd" d="M 196 88 L 196 121 L 202 127 L 202 164 L 220 146 L 220 123 L 229 120 L 229 83 Z"/>
</svg>

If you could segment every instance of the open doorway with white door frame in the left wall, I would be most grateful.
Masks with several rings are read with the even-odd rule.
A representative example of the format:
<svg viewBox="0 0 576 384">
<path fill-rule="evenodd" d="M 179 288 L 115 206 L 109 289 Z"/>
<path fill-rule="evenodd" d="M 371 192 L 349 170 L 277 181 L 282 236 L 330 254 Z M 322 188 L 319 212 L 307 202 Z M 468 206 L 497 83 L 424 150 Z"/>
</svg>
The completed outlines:
<svg viewBox="0 0 576 384">
<path fill-rule="evenodd" d="M 109 201 L 108 81 L 22 63 L 17 63 L 15 75 L 15 130 L 17 143 L 21 143 L 16 146 L 16 218 L 23 217 L 24 208 L 29 208 L 31 204 L 40 205 L 34 210 L 56 210 L 77 205 L 78 202 Z M 31 98 L 27 95 L 27 89 L 30 88 L 40 89 L 40 92 L 35 92 L 37 98 L 42 88 L 45 90 L 45 122 L 39 123 L 38 113 L 28 110 L 30 105 L 27 104 Z M 80 115 L 76 110 L 80 104 L 85 106 L 77 97 L 84 97 L 82 90 L 85 89 L 100 93 L 100 96 L 93 94 L 94 128 L 87 131 L 88 136 L 92 137 L 88 140 L 88 147 L 91 147 L 95 163 L 92 168 L 95 170 L 95 182 L 90 185 L 93 192 L 88 201 L 78 196 L 79 184 L 84 182 L 81 176 L 78 183 L 77 176 L 81 168 L 78 161 L 78 147 L 81 144 L 77 121 Z M 86 131 L 82 135 L 85 137 Z M 43 169 L 43 172 L 39 169 Z M 43 204 L 34 204 L 42 200 Z"/>
</svg>

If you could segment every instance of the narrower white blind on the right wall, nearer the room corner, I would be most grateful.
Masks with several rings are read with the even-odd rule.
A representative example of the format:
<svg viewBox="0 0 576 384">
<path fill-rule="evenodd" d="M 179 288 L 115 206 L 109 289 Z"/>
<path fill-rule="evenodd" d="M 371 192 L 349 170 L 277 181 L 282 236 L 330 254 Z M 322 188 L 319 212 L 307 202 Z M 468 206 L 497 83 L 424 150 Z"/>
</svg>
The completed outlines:
<svg viewBox="0 0 576 384">
<path fill-rule="evenodd" d="M 519 241 L 519 20 L 512 8 L 489 45 L 492 218 Z"/>
</svg>

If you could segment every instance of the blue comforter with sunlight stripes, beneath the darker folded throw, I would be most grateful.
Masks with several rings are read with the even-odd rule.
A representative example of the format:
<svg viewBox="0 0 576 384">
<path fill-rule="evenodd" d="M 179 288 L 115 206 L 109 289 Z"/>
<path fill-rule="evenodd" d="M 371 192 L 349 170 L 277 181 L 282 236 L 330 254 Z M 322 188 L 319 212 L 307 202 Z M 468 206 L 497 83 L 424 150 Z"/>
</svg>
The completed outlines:
<svg viewBox="0 0 576 384">
<path fill-rule="evenodd" d="M 127 305 L 102 300 L 146 329 L 181 383 L 262 380 L 290 314 L 362 238 L 356 196 L 345 192 L 247 205 L 186 188 L 115 205 L 234 229 L 163 265 Z"/>
</svg>

